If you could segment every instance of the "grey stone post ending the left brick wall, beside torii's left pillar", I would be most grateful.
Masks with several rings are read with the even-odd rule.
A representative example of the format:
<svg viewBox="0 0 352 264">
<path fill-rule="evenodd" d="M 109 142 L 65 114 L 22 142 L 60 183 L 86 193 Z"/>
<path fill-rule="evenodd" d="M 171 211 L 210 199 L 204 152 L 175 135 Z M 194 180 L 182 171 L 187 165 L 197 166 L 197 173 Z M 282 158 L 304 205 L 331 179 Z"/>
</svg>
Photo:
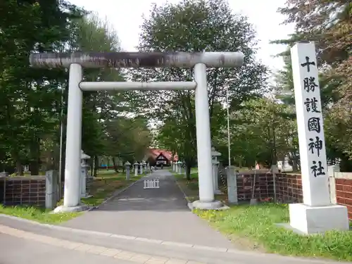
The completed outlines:
<svg viewBox="0 0 352 264">
<path fill-rule="evenodd" d="M 54 209 L 58 201 L 58 172 L 45 172 L 45 208 Z"/>
</svg>

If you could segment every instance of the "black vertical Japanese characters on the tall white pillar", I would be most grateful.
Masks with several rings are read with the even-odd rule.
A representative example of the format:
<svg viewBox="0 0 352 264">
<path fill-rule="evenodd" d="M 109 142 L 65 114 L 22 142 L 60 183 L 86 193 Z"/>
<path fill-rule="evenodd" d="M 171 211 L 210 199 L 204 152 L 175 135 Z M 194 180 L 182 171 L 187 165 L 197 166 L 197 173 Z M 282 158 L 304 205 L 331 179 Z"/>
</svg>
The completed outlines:
<svg viewBox="0 0 352 264">
<path fill-rule="evenodd" d="M 310 70 L 312 67 L 316 67 L 314 61 L 310 61 L 309 56 L 305 56 L 306 62 L 301 63 L 301 67 L 305 68 L 308 73 L 307 77 L 303 78 L 303 91 L 306 93 L 306 100 L 303 102 L 305 107 L 306 114 L 310 114 L 310 118 L 307 121 L 307 130 L 309 132 L 314 132 L 315 137 L 310 137 L 308 139 L 308 153 L 315 156 L 312 161 L 310 161 L 310 171 L 314 177 L 319 177 L 320 175 L 325 175 L 325 168 L 322 166 L 323 163 L 320 161 L 320 154 L 324 146 L 324 137 L 321 135 L 322 132 L 322 118 L 320 111 L 320 100 L 316 99 L 314 96 L 315 93 L 319 93 L 319 85 L 317 84 L 318 80 L 315 81 L 314 76 L 310 76 Z M 311 116 L 313 114 L 313 116 Z M 318 115 L 314 115 L 318 114 Z"/>
</svg>

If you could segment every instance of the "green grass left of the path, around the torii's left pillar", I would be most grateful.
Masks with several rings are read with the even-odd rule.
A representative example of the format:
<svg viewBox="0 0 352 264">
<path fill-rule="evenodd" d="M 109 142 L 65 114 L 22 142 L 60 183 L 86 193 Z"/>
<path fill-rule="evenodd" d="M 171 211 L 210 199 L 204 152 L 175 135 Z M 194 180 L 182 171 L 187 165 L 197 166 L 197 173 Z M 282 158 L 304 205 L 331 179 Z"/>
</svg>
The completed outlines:
<svg viewBox="0 0 352 264">
<path fill-rule="evenodd" d="M 131 175 L 132 176 L 132 175 Z M 103 201 L 108 199 L 116 190 L 127 187 L 132 182 L 139 180 L 143 175 L 137 177 L 131 177 L 130 180 L 125 180 L 125 175 L 116 174 L 115 171 L 103 171 L 99 172 L 98 177 L 94 178 L 94 181 L 89 187 L 89 194 L 92 197 L 82 199 L 82 203 L 88 206 L 98 206 Z M 58 205 L 61 205 L 63 201 L 59 201 Z M 6 215 L 13 215 L 19 218 L 25 218 L 28 220 L 34 220 L 37 222 L 59 224 L 72 218 L 77 217 L 82 213 L 50 213 L 51 210 L 45 208 L 39 208 L 37 206 L 1 206 L 0 213 Z"/>
</svg>

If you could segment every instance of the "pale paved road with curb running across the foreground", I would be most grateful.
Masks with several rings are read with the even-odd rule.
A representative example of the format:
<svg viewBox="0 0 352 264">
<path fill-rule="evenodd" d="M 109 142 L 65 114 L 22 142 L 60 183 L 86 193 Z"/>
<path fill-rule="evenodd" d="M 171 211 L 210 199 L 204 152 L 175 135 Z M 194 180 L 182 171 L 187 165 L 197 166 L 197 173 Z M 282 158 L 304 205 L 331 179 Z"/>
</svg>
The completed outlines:
<svg viewBox="0 0 352 264">
<path fill-rule="evenodd" d="M 341 264 L 210 247 L 124 239 L 0 215 L 0 263 Z"/>
</svg>

